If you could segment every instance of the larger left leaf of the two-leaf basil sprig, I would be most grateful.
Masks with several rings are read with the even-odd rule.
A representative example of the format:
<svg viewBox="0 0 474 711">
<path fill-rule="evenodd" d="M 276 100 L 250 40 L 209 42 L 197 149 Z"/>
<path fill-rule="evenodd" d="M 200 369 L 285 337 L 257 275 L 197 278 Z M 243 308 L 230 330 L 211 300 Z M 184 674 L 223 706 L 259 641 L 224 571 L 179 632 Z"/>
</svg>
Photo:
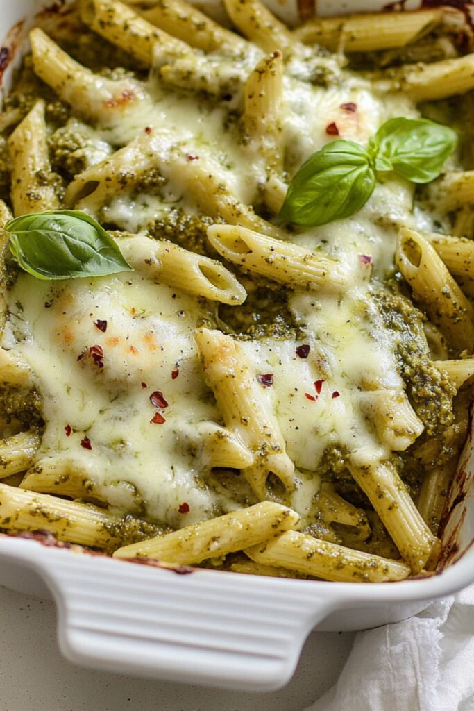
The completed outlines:
<svg viewBox="0 0 474 711">
<path fill-rule="evenodd" d="M 315 227 L 353 215 L 375 188 L 367 151 L 352 141 L 333 141 L 313 153 L 291 181 L 280 217 Z"/>
</svg>

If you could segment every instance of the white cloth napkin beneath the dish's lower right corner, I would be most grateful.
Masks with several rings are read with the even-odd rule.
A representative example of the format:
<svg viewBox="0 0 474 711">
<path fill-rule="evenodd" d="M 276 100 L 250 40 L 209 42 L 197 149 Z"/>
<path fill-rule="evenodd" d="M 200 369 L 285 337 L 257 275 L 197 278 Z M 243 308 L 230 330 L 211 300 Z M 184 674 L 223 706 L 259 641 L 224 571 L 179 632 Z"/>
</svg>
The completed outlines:
<svg viewBox="0 0 474 711">
<path fill-rule="evenodd" d="M 357 634 L 338 683 L 306 711 L 474 711 L 474 586 Z"/>
</svg>

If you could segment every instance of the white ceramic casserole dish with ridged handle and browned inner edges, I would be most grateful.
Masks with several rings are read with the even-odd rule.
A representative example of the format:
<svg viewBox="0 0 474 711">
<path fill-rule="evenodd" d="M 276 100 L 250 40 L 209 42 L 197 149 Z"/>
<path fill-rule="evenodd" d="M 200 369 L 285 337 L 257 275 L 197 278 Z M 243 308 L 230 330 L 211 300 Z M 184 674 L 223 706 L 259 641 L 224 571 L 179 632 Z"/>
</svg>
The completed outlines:
<svg viewBox="0 0 474 711">
<path fill-rule="evenodd" d="M 0 0 L 0 36 L 16 48 L 3 77 L 6 84 L 34 14 L 46 5 Z M 269 1 L 290 20 L 296 19 L 298 5 L 307 11 L 302 1 Z M 406 4 L 409 9 L 418 5 Z M 323 14 L 381 7 L 379 0 L 318 5 Z M 443 534 L 443 563 L 450 565 L 431 578 L 363 585 L 210 570 L 182 575 L 4 536 L 0 583 L 29 594 L 53 594 L 60 648 L 73 662 L 175 681 L 272 690 L 291 678 L 312 629 L 355 630 L 399 621 L 431 599 L 473 582 L 473 539 L 470 438 Z"/>
</svg>

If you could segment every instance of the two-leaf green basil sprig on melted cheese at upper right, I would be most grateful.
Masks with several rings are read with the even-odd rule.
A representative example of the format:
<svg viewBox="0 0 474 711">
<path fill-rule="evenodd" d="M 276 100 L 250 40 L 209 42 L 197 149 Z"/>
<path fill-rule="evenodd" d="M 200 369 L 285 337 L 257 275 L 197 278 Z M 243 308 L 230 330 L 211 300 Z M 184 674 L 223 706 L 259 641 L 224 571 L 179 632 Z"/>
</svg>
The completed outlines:
<svg viewBox="0 0 474 711">
<path fill-rule="evenodd" d="M 296 172 L 280 217 L 306 227 L 347 218 L 370 198 L 377 173 L 394 171 L 412 183 L 429 183 L 456 144 L 453 129 L 404 117 L 384 123 L 367 149 L 352 141 L 333 141 Z"/>
</svg>

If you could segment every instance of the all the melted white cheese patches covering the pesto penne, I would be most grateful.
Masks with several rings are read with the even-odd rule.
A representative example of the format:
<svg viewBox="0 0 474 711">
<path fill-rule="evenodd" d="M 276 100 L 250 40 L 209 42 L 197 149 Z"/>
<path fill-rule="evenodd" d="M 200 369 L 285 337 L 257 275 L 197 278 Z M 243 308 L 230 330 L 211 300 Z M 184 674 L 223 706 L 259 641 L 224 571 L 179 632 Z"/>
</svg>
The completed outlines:
<svg viewBox="0 0 474 711">
<path fill-rule="evenodd" d="M 326 127 L 332 122 L 340 137 L 364 143 L 390 117 L 417 115 L 408 99 L 376 97 L 367 81 L 344 73 L 335 60 L 327 62 L 337 77 L 333 87 L 315 87 L 295 78 L 295 72 L 285 79 L 284 137 L 293 169 L 330 140 Z M 90 135 L 124 146 L 151 127 L 159 133 L 163 151 L 178 144 L 200 156 L 239 201 L 254 201 L 266 179 L 265 166 L 239 144 L 237 127 L 225 127 L 225 105 L 173 94 L 153 80 L 137 83 L 135 93 L 137 100 L 126 109 L 104 112 L 98 127 L 88 129 Z M 357 104 L 357 112 L 344 109 L 348 102 Z M 165 167 L 164 172 L 164 196 L 144 192 L 132 198 L 124 190 L 102 208 L 102 218 L 136 232 L 170 203 L 193 210 L 192 201 L 183 196 L 179 169 Z M 319 487 L 314 472 L 328 445 L 358 451 L 363 461 L 390 454 L 362 415 L 360 390 L 366 383 L 403 389 L 392 338 L 372 305 L 370 277 L 382 278 L 392 267 L 399 223 L 429 223 L 426 215 L 413 214 L 411 205 L 411 186 L 392 178 L 379 183 L 352 218 L 291 236 L 340 260 L 350 284 L 345 294 L 326 289 L 291 295 L 291 311 L 311 346 L 308 358 L 298 358 L 298 343 L 291 340 L 242 342 L 254 372 L 274 376 L 272 387 L 262 386 L 262 398 L 301 470 L 293 506 L 305 516 Z M 359 255 L 372 257 L 373 270 Z M 4 346 L 14 346 L 31 365 L 43 397 L 46 428 L 36 471 L 48 471 L 53 478 L 70 471 L 91 482 L 102 501 L 174 527 L 238 506 L 232 497 L 212 490 L 203 476 L 209 466 L 202 454 L 209 431 L 205 423 L 222 422 L 193 337 L 209 317 L 200 299 L 139 272 L 52 284 L 21 274 L 9 294 L 9 309 Z M 107 321 L 106 332 L 95 326 L 97 319 Z M 87 350 L 92 346 L 103 349 L 103 367 Z M 322 381 L 319 393 L 316 381 Z M 162 424 L 151 422 L 157 412 L 149 400 L 153 391 L 168 402 L 159 410 L 166 420 Z M 67 425 L 72 428 L 69 437 Z M 85 437 L 92 449 L 82 446 Z M 186 515 L 178 513 L 183 501 L 190 506 Z"/>
</svg>

